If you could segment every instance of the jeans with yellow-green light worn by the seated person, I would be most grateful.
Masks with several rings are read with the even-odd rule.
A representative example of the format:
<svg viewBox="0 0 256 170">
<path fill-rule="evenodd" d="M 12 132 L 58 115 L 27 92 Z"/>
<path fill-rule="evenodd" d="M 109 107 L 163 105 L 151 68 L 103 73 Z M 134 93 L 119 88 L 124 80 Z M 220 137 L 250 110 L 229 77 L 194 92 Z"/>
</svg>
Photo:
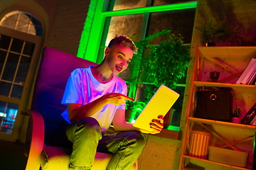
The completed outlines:
<svg viewBox="0 0 256 170">
<path fill-rule="evenodd" d="M 97 120 L 90 117 L 68 125 L 54 138 L 55 144 L 73 148 L 69 169 L 91 169 L 96 152 L 104 152 L 113 154 L 107 170 L 130 170 L 145 146 L 139 132 L 104 135 Z"/>
</svg>

